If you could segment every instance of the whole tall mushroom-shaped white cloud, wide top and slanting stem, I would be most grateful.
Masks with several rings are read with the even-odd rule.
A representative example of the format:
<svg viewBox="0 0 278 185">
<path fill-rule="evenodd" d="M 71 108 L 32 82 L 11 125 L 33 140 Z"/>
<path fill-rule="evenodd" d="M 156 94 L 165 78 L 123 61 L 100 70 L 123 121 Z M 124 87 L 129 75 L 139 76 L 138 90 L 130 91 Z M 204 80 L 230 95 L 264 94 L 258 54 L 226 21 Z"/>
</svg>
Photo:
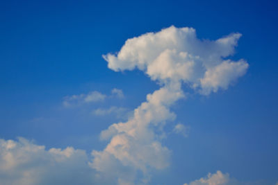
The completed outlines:
<svg viewBox="0 0 278 185">
<path fill-rule="evenodd" d="M 134 182 L 138 170 L 143 174 L 141 181 L 147 182 L 149 170 L 167 168 L 171 151 L 161 143 L 163 126 L 176 117 L 170 106 L 185 97 L 182 83 L 204 95 L 227 89 L 248 67 L 243 59 L 223 59 L 234 53 L 240 36 L 233 33 L 215 41 L 199 40 L 193 28 L 170 26 L 127 39 L 116 55 L 103 55 L 113 71 L 137 68 L 161 88 L 148 94 L 128 121 L 101 132 L 101 139 L 110 142 L 104 150 L 92 152 L 92 168 L 104 175 L 117 170 L 119 183 Z M 184 128 L 178 125 L 174 130 Z M 124 175 L 126 169 L 133 172 L 129 178 Z"/>
</svg>

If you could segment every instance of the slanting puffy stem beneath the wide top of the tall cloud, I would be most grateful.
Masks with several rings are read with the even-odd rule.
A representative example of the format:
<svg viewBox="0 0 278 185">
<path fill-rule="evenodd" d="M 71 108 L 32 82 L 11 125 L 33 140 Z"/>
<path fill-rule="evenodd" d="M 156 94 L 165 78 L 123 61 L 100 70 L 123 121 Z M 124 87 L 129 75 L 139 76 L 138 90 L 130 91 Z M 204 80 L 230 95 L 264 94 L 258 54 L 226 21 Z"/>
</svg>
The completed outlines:
<svg viewBox="0 0 278 185">
<path fill-rule="evenodd" d="M 121 168 L 134 172 L 141 170 L 146 179 L 149 167 L 163 169 L 169 166 L 171 152 L 162 146 L 155 131 L 160 130 L 162 122 L 174 119 L 175 115 L 167 107 L 181 97 L 183 93 L 179 85 L 163 87 L 149 94 L 147 102 L 135 109 L 129 121 L 113 124 L 101 132 L 101 138 L 111 138 L 111 142 L 103 151 L 92 152 L 95 157 L 92 167 L 102 173 L 115 168 L 119 173 Z M 108 161 L 118 166 L 110 165 Z M 126 181 L 124 173 L 121 179 Z"/>
</svg>

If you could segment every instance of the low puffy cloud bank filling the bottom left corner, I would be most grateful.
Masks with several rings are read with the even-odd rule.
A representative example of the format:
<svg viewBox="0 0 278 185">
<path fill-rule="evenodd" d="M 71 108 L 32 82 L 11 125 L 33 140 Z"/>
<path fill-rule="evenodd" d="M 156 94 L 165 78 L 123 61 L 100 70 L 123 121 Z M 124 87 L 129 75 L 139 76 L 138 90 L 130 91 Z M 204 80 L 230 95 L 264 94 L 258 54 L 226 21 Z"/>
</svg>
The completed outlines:
<svg viewBox="0 0 278 185">
<path fill-rule="evenodd" d="M 24 138 L 0 139 L 0 185 L 93 184 L 84 150 L 45 150 Z"/>
</svg>

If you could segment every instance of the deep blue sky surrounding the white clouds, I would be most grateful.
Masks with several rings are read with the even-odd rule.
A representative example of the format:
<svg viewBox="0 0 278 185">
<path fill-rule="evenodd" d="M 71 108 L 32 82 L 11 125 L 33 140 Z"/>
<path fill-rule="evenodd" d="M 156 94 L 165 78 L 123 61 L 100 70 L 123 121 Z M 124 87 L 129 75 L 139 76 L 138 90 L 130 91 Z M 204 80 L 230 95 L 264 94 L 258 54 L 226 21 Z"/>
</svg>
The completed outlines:
<svg viewBox="0 0 278 185">
<path fill-rule="evenodd" d="M 147 179 L 145 184 L 200 184 L 198 179 L 212 173 L 227 184 L 275 184 L 278 182 L 277 18 L 275 1 L 1 1 L 2 145 L 13 140 L 17 146 L 22 145 L 15 150 L 17 153 L 32 142 L 32 147 L 45 146 L 44 152 L 35 154 L 38 158 L 49 155 L 51 148 L 73 147 L 76 156 L 81 156 L 79 159 L 88 157 L 87 162 L 93 164 L 97 157 L 90 152 L 104 151 L 110 142 L 99 139 L 101 132 L 113 123 L 130 120 L 133 110 L 146 101 L 147 94 L 166 84 L 158 83 L 162 77 L 150 80 L 156 74 L 146 75 L 140 69 L 124 70 L 126 67 L 120 64 L 117 55 L 115 65 L 122 71 L 108 67 L 112 60 L 106 61 L 102 55 L 119 52 L 127 39 L 157 33 L 172 25 L 177 29 L 194 28 L 203 42 L 241 33 L 234 54 L 224 60 L 243 59 L 249 65 L 244 75 L 234 73 L 236 80 L 232 80 L 229 88 L 206 95 L 185 82 L 181 89 L 186 98 L 169 107 L 176 118 L 166 121 L 165 136 L 156 139 L 171 151 L 166 168 L 147 164 L 147 171 L 142 172 L 124 164 L 131 172 L 135 171 L 134 175 L 115 164 L 115 170 L 121 174 L 111 175 L 111 171 L 91 165 L 88 169 L 82 167 L 90 174 L 81 179 L 83 184 L 90 184 L 90 177 L 94 182 L 99 180 L 99 184 L 116 181 L 123 184 L 122 180 L 139 184 L 142 179 Z M 129 62 L 130 58 L 127 59 Z M 90 99 L 97 97 L 97 93 L 104 98 Z M 70 106 L 65 106 L 65 102 Z M 186 136 L 181 132 L 175 134 L 173 127 L 177 124 L 184 125 Z M 18 136 L 26 139 L 25 143 L 20 143 Z M 1 158 L 4 159 L 6 152 L 13 151 L 2 148 Z M 27 155 L 34 154 L 28 151 L 22 156 Z M 17 163 L 19 158 L 12 161 Z M 8 165 L 3 159 L 1 166 Z M 38 163 L 30 160 L 27 161 L 31 164 Z M 67 162 L 59 165 L 63 168 Z M 17 165 L 9 167 L 8 173 L 3 173 L 3 169 L 0 184 L 1 179 L 6 184 L 16 183 L 12 180 L 15 174 L 24 171 Z M 217 170 L 221 172 L 216 173 Z M 99 173 L 111 178 L 111 182 L 101 182 L 101 177 L 94 179 Z M 68 175 L 63 175 L 59 180 L 65 183 Z M 40 179 L 34 182 L 59 184 L 49 173 L 36 176 Z M 134 177 L 124 179 L 126 176 Z M 211 177 L 206 179 L 209 181 Z"/>
</svg>

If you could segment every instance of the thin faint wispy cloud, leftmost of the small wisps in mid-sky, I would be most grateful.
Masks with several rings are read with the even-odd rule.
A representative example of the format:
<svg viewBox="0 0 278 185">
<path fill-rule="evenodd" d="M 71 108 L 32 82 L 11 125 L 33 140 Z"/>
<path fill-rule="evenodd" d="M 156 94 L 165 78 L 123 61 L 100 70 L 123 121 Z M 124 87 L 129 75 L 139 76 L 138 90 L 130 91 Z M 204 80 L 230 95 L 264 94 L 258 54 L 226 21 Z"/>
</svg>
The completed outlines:
<svg viewBox="0 0 278 185">
<path fill-rule="evenodd" d="M 105 94 L 101 94 L 99 91 L 91 91 L 88 94 L 65 96 L 63 105 L 65 107 L 70 107 L 72 105 L 81 105 L 83 103 L 93 103 L 97 101 L 102 101 L 106 97 L 107 96 Z"/>
</svg>

